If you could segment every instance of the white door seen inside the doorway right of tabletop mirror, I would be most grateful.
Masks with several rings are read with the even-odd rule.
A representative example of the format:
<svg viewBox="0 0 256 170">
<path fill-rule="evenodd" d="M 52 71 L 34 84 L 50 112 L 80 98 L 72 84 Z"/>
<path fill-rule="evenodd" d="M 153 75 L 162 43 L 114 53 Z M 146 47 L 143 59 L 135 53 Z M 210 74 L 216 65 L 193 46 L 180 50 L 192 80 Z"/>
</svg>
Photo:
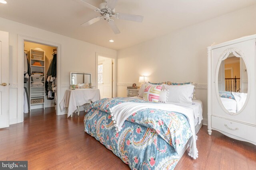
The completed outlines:
<svg viewBox="0 0 256 170">
<path fill-rule="evenodd" d="M 112 59 L 107 59 L 103 63 L 102 98 L 112 98 Z"/>
</svg>

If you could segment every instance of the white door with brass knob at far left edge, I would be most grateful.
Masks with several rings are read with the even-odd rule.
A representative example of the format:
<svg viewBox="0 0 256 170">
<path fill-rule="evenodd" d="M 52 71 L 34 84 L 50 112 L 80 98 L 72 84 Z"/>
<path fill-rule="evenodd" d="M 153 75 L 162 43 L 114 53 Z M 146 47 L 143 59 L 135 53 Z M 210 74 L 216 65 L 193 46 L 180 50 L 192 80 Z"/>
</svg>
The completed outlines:
<svg viewBox="0 0 256 170">
<path fill-rule="evenodd" d="M 0 31 L 0 128 L 9 127 L 9 33 Z"/>
</svg>

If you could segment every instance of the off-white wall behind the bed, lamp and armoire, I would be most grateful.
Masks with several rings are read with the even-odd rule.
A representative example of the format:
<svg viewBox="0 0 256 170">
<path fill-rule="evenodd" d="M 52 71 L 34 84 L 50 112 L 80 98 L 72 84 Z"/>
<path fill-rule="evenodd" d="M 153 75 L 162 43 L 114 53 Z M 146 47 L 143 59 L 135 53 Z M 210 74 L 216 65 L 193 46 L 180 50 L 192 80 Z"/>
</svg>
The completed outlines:
<svg viewBox="0 0 256 170">
<path fill-rule="evenodd" d="M 256 34 L 256 6 L 204 21 L 168 35 L 118 51 L 117 95 L 126 96 L 124 83 L 136 83 L 139 76 L 151 82 L 193 81 L 207 84 L 206 47 Z M 207 119 L 207 89 L 197 89 Z"/>
</svg>

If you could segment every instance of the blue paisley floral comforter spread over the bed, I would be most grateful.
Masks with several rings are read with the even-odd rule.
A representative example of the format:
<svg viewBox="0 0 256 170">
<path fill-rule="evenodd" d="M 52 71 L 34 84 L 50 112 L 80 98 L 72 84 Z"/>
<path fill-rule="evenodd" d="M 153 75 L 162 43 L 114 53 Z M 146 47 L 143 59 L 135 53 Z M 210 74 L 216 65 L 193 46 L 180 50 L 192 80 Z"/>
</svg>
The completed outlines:
<svg viewBox="0 0 256 170">
<path fill-rule="evenodd" d="M 105 98 L 92 103 L 84 117 L 85 131 L 112 150 L 132 170 L 174 169 L 179 153 L 192 136 L 181 113 L 142 109 L 133 113 L 117 133 L 109 108 L 134 98 Z"/>
</svg>

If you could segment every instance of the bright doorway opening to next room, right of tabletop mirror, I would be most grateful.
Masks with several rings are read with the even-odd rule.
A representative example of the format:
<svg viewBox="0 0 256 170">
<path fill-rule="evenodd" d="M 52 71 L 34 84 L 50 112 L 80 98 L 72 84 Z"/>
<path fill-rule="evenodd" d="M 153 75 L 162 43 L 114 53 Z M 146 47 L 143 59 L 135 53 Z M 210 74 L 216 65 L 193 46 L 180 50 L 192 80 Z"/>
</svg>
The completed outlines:
<svg viewBox="0 0 256 170">
<path fill-rule="evenodd" d="M 114 59 L 98 55 L 97 85 L 101 98 L 113 97 Z"/>
</svg>

